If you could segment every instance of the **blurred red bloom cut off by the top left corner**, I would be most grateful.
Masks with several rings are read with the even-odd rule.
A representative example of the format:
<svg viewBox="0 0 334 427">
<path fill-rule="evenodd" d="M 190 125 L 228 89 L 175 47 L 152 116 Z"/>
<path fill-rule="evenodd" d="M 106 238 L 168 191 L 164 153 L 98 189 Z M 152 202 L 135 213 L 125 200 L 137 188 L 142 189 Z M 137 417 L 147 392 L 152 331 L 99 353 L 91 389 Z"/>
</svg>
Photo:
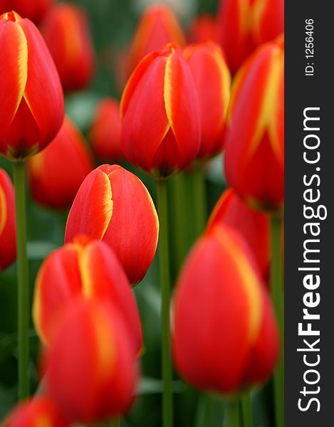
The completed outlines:
<svg viewBox="0 0 334 427">
<path fill-rule="evenodd" d="M 24 18 L 38 24 L 54 0 L 0 0 L 0 14 L 17 11 Z"/>
</svg>

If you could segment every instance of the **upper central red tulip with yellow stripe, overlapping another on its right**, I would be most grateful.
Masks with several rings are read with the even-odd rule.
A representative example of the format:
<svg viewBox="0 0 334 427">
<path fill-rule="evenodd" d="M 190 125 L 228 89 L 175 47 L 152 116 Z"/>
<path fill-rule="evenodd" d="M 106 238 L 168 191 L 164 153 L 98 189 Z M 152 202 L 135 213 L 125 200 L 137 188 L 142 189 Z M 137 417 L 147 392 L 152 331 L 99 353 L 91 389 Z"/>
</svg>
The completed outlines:
<svg viewBox="0 0 334 427">
<path fill-rule="evenodd" d="M 199 101 L 189 65 L 168 45 L 150 53 L 127 82 L 120 105 L 127 160 L 157 177 L 187 167 L 199 150 Z"/>
</svg>

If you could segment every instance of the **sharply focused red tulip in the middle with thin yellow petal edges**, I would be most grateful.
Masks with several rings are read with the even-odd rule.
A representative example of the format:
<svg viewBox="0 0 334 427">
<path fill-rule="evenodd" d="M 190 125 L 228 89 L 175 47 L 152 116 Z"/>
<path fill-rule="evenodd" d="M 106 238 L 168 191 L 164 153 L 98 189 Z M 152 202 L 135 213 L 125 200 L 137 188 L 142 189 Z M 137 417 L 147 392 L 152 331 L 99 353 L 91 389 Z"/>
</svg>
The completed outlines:
<svg viewBox="0 0 334 427">
<path fill-rule="evenodd" d="M 85 234 L 113 248 L 130 283 L 138 283 L 150 267 L 159 234 L 155 206 L 142 181 L 118 165 L 90 172 L 75 197 L 65 241 Z"/>
</svg>

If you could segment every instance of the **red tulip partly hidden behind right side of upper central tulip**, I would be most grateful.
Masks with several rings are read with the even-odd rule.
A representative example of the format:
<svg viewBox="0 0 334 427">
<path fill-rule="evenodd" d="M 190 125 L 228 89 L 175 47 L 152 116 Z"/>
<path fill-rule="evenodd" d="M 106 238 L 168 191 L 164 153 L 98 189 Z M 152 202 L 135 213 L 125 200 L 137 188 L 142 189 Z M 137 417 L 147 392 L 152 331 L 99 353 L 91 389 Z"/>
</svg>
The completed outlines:
<svg viewBox="0 0 334 427">
<path fill-rule="evenodd" d="M 223 149 L 231 75 L 221 48 L 212 41 L 188 46 L 184 51 L 199 97 L 202 139 L 197 158 L 213 157 Z"/>
</svg>

